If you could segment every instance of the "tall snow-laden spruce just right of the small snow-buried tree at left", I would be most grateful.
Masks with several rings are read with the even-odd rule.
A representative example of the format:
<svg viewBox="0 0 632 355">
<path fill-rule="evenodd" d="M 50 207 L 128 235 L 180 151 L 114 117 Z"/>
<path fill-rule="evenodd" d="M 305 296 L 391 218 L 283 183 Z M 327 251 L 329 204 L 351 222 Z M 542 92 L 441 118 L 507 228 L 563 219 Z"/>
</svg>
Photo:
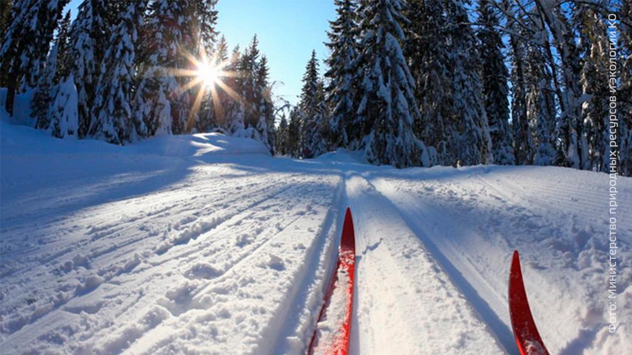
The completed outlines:
<svg viewBox="0 0 632 355">
<path fill-rule="evenodd" d="M 136 46 L 147 1 L 126 1 L 125 5 L 101 61 L 92 107 L 95 120 L 88 131 L 90 136 L 115 144 L 124 144 L 135 138 L 132 98 Z"/>
</svg>

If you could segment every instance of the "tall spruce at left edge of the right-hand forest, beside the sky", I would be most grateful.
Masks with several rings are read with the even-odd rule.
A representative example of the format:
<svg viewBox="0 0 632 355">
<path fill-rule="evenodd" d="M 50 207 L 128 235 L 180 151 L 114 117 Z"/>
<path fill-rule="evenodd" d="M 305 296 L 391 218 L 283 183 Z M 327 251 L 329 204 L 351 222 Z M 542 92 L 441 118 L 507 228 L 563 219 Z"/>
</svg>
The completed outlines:
<svg viewBox="0 0 632 355">
<path fill-rule="evenodd" d="M 329 43 L 327 47 L 331 55 L 325 60 L 329 71 L 325 77 L 329 78 L 327 103 L 332 114 L 329 119 L 327 143 L 330 149 L 347 147 L 349 139 L 347 131 L 351 129 L 355 117 L 355 77 L 351 64 L 358 56 L 358 25 L 356 18 L 356 3 L 352 0 L 335 0 L 337 18 L 329 21 L 331 30 L 327 33 Z M 358 141 L 359 137 L 356 137 Z"/>
</svg>

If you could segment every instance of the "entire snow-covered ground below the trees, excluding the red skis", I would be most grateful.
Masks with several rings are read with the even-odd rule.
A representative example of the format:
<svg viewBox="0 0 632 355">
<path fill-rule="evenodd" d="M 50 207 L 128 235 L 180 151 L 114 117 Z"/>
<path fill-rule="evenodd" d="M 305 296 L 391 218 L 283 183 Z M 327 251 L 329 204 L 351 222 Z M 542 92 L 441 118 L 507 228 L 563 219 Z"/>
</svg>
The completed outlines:
<svg viewBox="0 0 632 355">
<path fill-rule="evenodd" d="M 632 353 L 632 179 L 618 180 L 611 335 L 605 174 L 273 158 L 222 135 L 116 147 L 0 124 L 3 354 L 304 354 L 347 205 L 352 354 L 517 354 L 513 250 L 552 354 Z"/>
</svg>

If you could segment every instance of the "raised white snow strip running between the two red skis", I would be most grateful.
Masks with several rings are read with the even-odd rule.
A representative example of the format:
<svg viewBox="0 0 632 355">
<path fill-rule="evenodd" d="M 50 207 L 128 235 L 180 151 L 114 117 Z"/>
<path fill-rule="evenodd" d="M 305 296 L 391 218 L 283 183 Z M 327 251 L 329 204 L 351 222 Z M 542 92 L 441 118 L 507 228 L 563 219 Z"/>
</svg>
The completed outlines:
<svg viewBox="0 0 632 355">
<path fill-rule="evenodd" d="M 346 192 L 357 216 L 351 354 L 504 353 L 391 203 L 359 174 Z"/>
</svg>

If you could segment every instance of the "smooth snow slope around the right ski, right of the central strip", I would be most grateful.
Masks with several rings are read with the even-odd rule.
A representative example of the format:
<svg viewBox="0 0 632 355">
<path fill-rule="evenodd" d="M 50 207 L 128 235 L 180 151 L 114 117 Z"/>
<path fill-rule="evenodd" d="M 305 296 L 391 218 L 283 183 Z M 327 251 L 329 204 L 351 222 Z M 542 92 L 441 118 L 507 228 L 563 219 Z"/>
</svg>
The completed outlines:
<svg viewBox="0 0 632 355">
<path fill-rule="evenodd" d="M 607 342 L 632 349 L 622 333 L 607 335 L 604 300 L 594 296 L 603 293 L 599 286 L 605 271 L 600 268 L 607 255 L 603 251 L 607 238 L 595 232 L 607 220 L 603 213 L 607 200 L 597 197 L 595 181 L 607 177 L 584 171 L 566 176 L 568 171 L 555 167 L 490 171 L 468 167 L 415 175 L 374 172 L 369 179 L 448 270 L 503 344 L 514 341 L 507 276 L 513 250 L 519 250 L 533 316 L 552 354 L 599 352 Z M 574 189 L 564 187 L 568 183 L 581 191 L 573 195 Z M 622 183 L 621 199 L 632 200 L 628 181 Z M 574 206 L 578 201 L 582 203 Z M 619 232 L 631 231 L 630 222 L 619 219 Z M 629 245 L 626 239 L 619 243 Z M 623 286 L 621 291 L 630 290 Z"/>
</svg>

